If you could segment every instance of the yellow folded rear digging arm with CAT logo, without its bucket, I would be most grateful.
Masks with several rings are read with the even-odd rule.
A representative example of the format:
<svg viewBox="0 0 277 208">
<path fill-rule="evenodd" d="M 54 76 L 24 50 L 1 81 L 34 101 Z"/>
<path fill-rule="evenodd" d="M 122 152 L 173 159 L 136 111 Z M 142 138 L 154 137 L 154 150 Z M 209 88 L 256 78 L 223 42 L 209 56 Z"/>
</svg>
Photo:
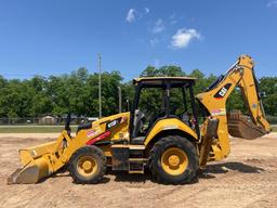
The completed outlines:
<svg viewBox="0 0 277 208">
<path fill-rule="evenodd" d="M 220 76 L 205 92 L 196 96 L 207 109 L 208 115 L 219 119 L 217 139 L 212 145 L 213 154 L 211 159 L 213 160 L 223 159 L 229 154 L 226 101 L 236 87 L 241 89 L 245 103 L 249 109 L 249 115 L 253 120 L 252 125 L 261 129 L 263 134 L 271 130 L 259 96 L 258 81 L 254 76 L 253 67 L 254 63 L 252 58 L 248 55 L 241 55 L 225 75 Z M 243 130 L 251 131 L 249 126 Z M 205 135 L 206 132 L 202 133 Z"/>
</svg>

